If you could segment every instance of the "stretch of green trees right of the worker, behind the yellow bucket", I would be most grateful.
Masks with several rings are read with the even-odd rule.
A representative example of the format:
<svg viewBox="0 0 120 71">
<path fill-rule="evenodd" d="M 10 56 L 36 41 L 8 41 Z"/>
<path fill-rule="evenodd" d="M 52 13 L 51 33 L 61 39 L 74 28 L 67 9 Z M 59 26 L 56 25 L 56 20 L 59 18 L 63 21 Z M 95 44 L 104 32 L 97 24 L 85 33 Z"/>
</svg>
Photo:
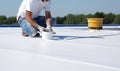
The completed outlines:
<svg viewBox="0 0 120 71">
<path fill-rule="evenodd" d="M 120 24 L 120 14 L 96 12 L 95 14 L 68 14 L 56 17 L 57 24 L 87 24 L 87 18 L 104 18 L 103 24 Z"/>
</svg>

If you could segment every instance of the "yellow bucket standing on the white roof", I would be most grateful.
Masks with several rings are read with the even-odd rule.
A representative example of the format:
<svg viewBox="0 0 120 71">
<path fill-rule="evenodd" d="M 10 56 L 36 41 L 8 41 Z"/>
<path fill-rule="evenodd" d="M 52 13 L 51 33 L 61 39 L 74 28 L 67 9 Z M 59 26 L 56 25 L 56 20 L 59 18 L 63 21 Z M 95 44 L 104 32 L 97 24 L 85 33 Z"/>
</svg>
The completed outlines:
<svg viewBox="0 0 120 71">
<path fill-rule="evenodd" d="M 102 29 L 103 18 L 87 18 L 89 29 Z"/>
</svg>

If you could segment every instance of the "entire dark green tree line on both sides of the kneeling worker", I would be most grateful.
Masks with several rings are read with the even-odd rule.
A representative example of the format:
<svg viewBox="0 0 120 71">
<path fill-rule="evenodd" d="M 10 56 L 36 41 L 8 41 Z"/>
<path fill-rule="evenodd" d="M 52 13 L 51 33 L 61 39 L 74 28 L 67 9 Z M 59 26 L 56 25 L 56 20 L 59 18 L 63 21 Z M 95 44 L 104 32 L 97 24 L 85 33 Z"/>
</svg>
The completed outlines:
<svg viewBox="0 0 120 71">
<path fill-rule="evenodd" d="M 104 18 L 103 24 L 120 24 L 120 14 L 96 12 L 95 14 L 68 14 L 63 17 L 54 17 L 56 24 L 87 24 L 87 18 Z M 0 25 L 18 25 L 16 16 L 0 16 Z"/>
</svg>

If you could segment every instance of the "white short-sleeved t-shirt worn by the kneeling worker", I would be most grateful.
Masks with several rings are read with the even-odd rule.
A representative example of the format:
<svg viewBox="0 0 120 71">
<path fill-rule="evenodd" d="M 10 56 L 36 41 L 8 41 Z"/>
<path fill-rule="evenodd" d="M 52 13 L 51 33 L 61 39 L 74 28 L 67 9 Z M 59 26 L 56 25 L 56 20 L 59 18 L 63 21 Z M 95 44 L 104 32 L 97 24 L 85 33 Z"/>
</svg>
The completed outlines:
<svg viewBox="0 0 120 71">
<path fill-rule="evenodd" d="M 37 17 L 42 9 L 45 11 L 50 11 L 51 0 L 47 2 L 42 2 L 41 0 L 23 0 L 19 11 L 17 13 L 17 19 L 19 16 L 25 17 L 26 10 L 32 12 L 32 18 Z"/>
</svg>

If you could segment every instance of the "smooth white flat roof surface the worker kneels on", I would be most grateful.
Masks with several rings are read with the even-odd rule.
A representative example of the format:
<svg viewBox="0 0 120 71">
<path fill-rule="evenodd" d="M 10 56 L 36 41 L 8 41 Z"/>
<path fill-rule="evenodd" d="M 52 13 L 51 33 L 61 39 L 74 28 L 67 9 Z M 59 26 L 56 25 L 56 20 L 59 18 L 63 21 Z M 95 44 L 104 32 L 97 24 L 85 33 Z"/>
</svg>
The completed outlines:
<svg viewBox="0 0 120 71">
<path fill-rule="evenodd" d="M 53 40 L 43 40 L 0 27 L 0 71 L 120 71 L 120 26 L 53 29 Z"/>
</svg>

